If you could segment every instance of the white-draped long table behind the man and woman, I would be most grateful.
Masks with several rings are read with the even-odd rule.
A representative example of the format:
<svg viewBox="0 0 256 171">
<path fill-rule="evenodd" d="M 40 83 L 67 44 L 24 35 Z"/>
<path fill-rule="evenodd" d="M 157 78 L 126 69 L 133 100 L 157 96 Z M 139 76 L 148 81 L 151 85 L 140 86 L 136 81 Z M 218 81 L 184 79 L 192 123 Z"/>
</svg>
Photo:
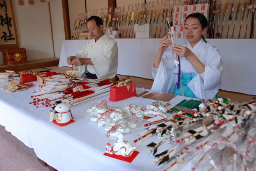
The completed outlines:
<svg viewBox="0 0 256 171">
<path fill-rule="evenodd" d="M 151 67 L 159 48 L 160 38 L 116 39 L 118 45 L 118 70 L 121 75 L 153 79 Z M 62 42 L 59 66 L 68 66 L 66 58 L 74 55 L 87 40 L 66 40 Z M 219 48 L 224 64 L 221 89 L 256 95 L 256 40 L 255 39 L 208 39 Z M 183 45 L 184 39 L 176 39 Z"/>
</svg>

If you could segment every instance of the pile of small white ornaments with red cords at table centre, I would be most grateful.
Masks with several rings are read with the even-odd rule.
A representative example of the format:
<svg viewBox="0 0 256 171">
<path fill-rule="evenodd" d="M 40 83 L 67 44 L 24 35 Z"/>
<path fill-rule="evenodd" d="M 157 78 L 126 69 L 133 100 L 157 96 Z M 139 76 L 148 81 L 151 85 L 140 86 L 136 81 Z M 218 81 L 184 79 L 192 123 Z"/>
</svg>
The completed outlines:
<svg viewBox="0 0 256 171">
<path fill-rule="evenodd" d="M 112 130 L 114 127 L 117 131 L 127 134 L 131 129 L 137 128 L 137 123 L 126 120 L 126 115 L 121 108 L 100 106 L 94 104 L 89 106 L 86 112 L 93 114 L 89 119 L 92 122 L 97 122 L 98 127 L 105 126 L 105 130 Z"/>
</svg>

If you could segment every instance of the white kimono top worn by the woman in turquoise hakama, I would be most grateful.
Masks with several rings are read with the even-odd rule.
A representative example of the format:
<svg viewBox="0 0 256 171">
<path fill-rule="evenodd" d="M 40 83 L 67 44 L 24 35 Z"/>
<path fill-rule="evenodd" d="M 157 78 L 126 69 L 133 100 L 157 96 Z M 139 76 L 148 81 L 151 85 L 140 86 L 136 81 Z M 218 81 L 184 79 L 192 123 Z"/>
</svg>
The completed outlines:
<svg viewBox="0 0 256 171">
<path fill-rule="evenodd" d="M 221 86 L 223 64 L 219 50 L 210 43 L 200 40 L 194 48 L 187 42 L 195 56 L 205 65 L 205 72 L 198 74 L 186 57 L 180 57 L 181 72 L 197 74 L 187 85 L 195 96 L 201 99 L 213 99 Z M 152 90 L 173 93 L 178 79 L 178 67 L 174 66 L 175 53 L 172 50 L 163 53 L 159 68 L 152 67 L 155 78 Z"/>
</svg>

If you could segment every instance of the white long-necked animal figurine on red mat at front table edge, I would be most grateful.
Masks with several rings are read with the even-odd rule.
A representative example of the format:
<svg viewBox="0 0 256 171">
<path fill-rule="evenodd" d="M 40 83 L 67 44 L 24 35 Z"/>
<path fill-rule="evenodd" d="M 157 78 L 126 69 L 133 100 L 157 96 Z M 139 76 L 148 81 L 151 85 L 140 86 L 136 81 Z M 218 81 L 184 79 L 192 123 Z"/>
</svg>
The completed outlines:
<svg viewBox="0 0 256 171">
<path fill-rule="evenodd" d="M 112 152 L 124 157 L 130 157 L 136 147 L 132 147 L 130 143 L 124 141 L 124 134 L 119 131 L 112 133 L 111 136 L 118 138 L 117 142 L 112 146 Z"/>
</svg>

